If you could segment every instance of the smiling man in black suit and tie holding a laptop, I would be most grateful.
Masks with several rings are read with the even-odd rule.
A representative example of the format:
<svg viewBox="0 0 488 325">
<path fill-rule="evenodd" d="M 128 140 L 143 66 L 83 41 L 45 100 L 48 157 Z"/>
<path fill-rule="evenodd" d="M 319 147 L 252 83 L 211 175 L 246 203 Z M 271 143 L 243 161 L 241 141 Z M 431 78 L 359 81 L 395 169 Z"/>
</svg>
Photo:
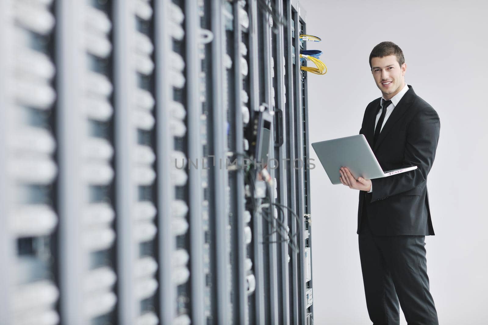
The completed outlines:
<svg viewBox="0 0 488 325">
<path fill-rule="evenodd" d="M 438 325 L 429 292 L 425 236 L 433 235 L 427 174 L 439 141 L 435 110 L 405 83 L 407 64 L 392 42 L 376 45 L 369 65 L 382 98 L 370 102 L 364 134 L 383 170 L 414 171 L 377 179 L 341 182 L 359 190 L 358 234 L 366 306 L 374 325 L 400 324 L 399 302 L 408 325 Z"/>
</svg>

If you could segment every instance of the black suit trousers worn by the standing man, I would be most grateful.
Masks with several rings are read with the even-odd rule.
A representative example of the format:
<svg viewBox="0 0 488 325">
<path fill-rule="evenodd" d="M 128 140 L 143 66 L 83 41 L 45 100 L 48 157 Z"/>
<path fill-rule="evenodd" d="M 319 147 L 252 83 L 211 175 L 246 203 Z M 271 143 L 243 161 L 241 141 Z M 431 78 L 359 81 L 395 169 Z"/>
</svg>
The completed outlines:
<svg viewBox="0 0 488 325">
<path fill-rule="evenodd" d="M 438 325 L 429 292 L 425 236 L 375 236 L 367 219 L 365 207 L 359 256 L 373 325 L 400 324 L 399 302 L 408 325 Z"/>
</svg>

